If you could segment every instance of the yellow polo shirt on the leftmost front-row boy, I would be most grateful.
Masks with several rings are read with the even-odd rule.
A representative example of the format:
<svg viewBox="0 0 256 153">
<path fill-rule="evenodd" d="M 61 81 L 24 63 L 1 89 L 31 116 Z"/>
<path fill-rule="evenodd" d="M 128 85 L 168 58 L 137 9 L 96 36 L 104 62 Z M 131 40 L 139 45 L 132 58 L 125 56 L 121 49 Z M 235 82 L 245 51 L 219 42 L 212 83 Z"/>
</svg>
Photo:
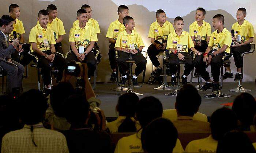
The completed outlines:
<svg viewBox="0 0 256 153">
<path fill-rule="evenodd" d="M 48 46 L 44 46 L 45 39 L 49 44 Z M 39 23 L 31 29 L 29 43 L 37 43 L 37 48 L 41 51 L 48 51 L 50 50 L 50 44 L 56 44 L 53 31 L 48 26 L 46 26 L 46 29 L 42 28 Z M 30 50 L 33 52 L 32 45 Z"/>
</svg>

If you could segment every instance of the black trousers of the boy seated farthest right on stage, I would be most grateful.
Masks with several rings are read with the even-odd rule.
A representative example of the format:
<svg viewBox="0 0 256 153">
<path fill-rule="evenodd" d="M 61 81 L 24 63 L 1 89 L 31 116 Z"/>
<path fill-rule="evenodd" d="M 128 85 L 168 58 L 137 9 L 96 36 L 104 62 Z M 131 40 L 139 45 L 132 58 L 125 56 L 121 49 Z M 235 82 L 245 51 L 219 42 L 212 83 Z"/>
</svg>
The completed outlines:
<svg viewBox="0 0 256 153">
<path fill-rule="evenodd" d="M 231 47 L 231 52 L 233 53 L 234 61 L 237 68 L 241 68 L 243 64 L 242 53 L 251 50 L 251 44 L 242 45 L 239 47 Z"/>
</svg>

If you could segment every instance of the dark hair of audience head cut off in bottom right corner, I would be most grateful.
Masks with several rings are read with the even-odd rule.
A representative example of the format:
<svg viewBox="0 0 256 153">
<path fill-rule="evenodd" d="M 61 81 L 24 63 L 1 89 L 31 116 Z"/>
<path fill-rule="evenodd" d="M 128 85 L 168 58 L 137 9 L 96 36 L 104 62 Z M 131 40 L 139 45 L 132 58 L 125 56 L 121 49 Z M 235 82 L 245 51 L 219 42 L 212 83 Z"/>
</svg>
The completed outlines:
<svg viewBox="0 0 256 153">
<path fill-rule="evenodd" d="M 256 153 L 251 140 L 244 132 L 227 132 L 219 140 L 216 153 Z"/>
</svg>

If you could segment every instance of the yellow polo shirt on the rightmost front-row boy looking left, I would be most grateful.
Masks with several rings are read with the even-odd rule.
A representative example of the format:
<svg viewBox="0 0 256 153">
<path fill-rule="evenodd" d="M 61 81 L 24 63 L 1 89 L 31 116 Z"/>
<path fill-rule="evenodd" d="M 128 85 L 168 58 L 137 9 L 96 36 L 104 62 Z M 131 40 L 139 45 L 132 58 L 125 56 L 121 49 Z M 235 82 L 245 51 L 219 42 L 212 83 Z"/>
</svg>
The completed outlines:
<svg viewBox="0 0 256 153">
<path fill-rule="evenodd" d="M 219 50 L 222 48 L 223 44 L 227 45 L 227 49 L 225 52 L 228 54 L 230 53 L 230 45 L 232 43 L 231 33 L 224 28 L 219 34 L 217 32 L 218 30 L 215 30 L 211 33 L 211 38 L 208 46 L 212 47 L 212 49 Z"/>
</svg>

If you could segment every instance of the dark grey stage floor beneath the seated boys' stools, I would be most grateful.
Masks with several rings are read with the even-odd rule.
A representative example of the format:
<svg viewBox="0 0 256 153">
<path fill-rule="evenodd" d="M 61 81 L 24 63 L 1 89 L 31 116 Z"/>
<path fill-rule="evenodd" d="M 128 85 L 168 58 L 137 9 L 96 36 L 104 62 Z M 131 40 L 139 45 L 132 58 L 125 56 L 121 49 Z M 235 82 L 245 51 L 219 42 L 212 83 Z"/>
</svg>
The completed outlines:
<svg viewBox="0 0 256 153">
<path fill-rule="evenodd" d="M 196 85 L 196 83 L 193 83 Z M 246 89 L 251 89 L 248 93 L 252 94 L 256 97 L 256 90 L 255 90 L 255 82 L 243 82 L 243 87 Z M 147 85 L 140 89 L 135 89 L 135 92 L 144 94 L 139 98 L 143 98 L 145 96 L 154 96 L 158 98 L 162 104 L 163 109 L 173 109 L 174 102 L 176 97 L 173 96 L 166 96 L 165 93 L 171 92 L 169 91 L 162 91 L 162 90 L 154 90 L 154 87 L 159 85 Z M 95 94 L 98 95 L 97 98 L 101 99 L 101 109 L 104 110 L 106 117 L 116 117 L 115 106 L 117 103 L 118 96 L 116 94 L 121 93 L 121 91 L 113 91 L 111 89 L 117 87 L 115 83 L 98 83 L 96 86 Z M 205 94 L 210 94 L 211 90 L 207 91 L 199 91 L 199 94 L 202 96 L 202 104 L 200 106 L 199 112 L 206 114 L 207 116 L 211 116 L 212 112 L 220 107 L 222 107 L 222 103 L 233 102 L 234 98 L 239 95 L 240 93 L 231 92 L 229 89 L 233 89 L 237 87 L 236 82 L 224 82 L 222 92 L 225 94 L 232 95 L 230 98 L 206 98 L 204 97 Z M 37 89 L 36 83 L 23 83 L 23 90 L 27 91 L 29 89 Z"/>
</svg>

